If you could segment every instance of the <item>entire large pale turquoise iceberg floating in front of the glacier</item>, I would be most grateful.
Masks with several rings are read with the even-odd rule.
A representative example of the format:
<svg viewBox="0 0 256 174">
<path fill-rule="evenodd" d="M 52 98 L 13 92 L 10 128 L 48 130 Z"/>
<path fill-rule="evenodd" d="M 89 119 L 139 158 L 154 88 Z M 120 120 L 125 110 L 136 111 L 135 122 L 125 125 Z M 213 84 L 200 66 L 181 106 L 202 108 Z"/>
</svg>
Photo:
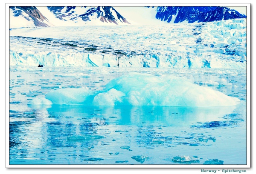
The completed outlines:
<svg viewBox="0 0 256 174">
<path fill-rule="evenodd" d="M 46 95 L 45 103 L 42 99 L 34 99 L 29 104 L 215 107 L 235 106 L 238 101 L 186 78 L 132 72 L 111 80 L 102 91 L 57 89 Z"/>
</svg>

